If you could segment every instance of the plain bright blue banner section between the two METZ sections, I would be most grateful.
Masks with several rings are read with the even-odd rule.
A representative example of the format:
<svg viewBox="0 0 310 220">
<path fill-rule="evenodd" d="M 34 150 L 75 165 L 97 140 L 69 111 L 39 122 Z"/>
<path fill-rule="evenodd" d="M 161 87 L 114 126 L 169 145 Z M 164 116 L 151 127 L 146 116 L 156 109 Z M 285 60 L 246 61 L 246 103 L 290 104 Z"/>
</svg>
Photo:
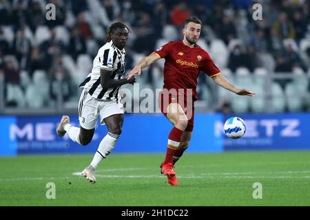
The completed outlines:
<svg viewBox="0 0 310 220">
<path fill-rule="evenodd" d="M 223 138 L 216 137 L 214 124 L 220 114 L 196 114 L 194 132 L 188 152 L 221 152 Z M 161 114 L 125 115 L 123 133 L 118 140 L 118 152 L 165 152 L 173 125 Z"/>
</svg>

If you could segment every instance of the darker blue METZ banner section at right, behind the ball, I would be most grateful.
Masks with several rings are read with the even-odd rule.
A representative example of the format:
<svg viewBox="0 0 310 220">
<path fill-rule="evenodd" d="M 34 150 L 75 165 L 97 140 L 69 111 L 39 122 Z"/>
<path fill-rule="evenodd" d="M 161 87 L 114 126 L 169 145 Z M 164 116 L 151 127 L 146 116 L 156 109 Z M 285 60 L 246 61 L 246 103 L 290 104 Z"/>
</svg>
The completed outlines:
<svg viewBox="0 0 310 220">
<path fill-rule="evenodd" d="M 237 140 L 225 137 L 225 151 L 310 149 L 310 113 L 225 115 L 225 120 L 231 116 L 245 120 L 247 131 Z"/>
</svg>

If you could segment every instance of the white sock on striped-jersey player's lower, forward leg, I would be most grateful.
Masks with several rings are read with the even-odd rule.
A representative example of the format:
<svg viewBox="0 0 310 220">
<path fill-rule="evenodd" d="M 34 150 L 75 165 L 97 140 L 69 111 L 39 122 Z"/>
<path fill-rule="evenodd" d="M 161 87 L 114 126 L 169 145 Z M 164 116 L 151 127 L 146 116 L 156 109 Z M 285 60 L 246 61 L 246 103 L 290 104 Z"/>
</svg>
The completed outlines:
<svg viewBox="0 0 310 220">
<path fill-rule="evenodd" d="M 105 159 L 105 157 L 111 153 L 118 140 L 118 137 L 119 135 L 110 132 L 105 135 L 99 144 L 99 148 L 94 155 L 94 159 L 92 159 L 92 162 L 90 163 L 92 167 L 96 168 L 101 160 Z"/>
</svg>

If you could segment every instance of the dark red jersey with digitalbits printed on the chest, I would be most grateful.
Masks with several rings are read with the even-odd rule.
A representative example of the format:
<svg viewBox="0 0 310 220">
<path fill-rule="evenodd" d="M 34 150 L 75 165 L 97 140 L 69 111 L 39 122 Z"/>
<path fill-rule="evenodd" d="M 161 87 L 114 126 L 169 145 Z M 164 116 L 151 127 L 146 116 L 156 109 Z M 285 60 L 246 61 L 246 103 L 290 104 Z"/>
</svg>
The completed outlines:
<svg viewBox="0 0 310 220">
<path fill-rule="evenodd" d="M 188 47 L 183 41 L 171 41 L 155 51 L 165 58 L 164 89 L 192 89 L 192 96 L 197 100 L 197 78 L 200 71 L 209 77 L 220 74 L 209 54 L 198 45 Z M 185 94 L 186 95 L 186 94 Z M 187 94 L 189 95 L 189 94 Z"/>
</svg>

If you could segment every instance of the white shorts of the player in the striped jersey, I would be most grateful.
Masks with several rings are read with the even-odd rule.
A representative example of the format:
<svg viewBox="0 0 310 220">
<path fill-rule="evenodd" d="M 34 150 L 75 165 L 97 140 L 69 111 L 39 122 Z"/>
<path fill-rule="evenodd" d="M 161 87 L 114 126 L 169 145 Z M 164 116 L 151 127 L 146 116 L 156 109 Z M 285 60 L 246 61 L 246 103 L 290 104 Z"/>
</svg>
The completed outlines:
<svg viewBox="0 0 310 220">
<path fill-rule="evenodd" d="M 79 100 L 79 121 L 84 129 L 94 129 L 100 115 L 100 124 L 105 124 L 103 119 L 116 114 L 123 114 L 124 107 L 121 98 L 114 100 L 99 100 L 88 94 L 83 89 Z"/>
</svg>

